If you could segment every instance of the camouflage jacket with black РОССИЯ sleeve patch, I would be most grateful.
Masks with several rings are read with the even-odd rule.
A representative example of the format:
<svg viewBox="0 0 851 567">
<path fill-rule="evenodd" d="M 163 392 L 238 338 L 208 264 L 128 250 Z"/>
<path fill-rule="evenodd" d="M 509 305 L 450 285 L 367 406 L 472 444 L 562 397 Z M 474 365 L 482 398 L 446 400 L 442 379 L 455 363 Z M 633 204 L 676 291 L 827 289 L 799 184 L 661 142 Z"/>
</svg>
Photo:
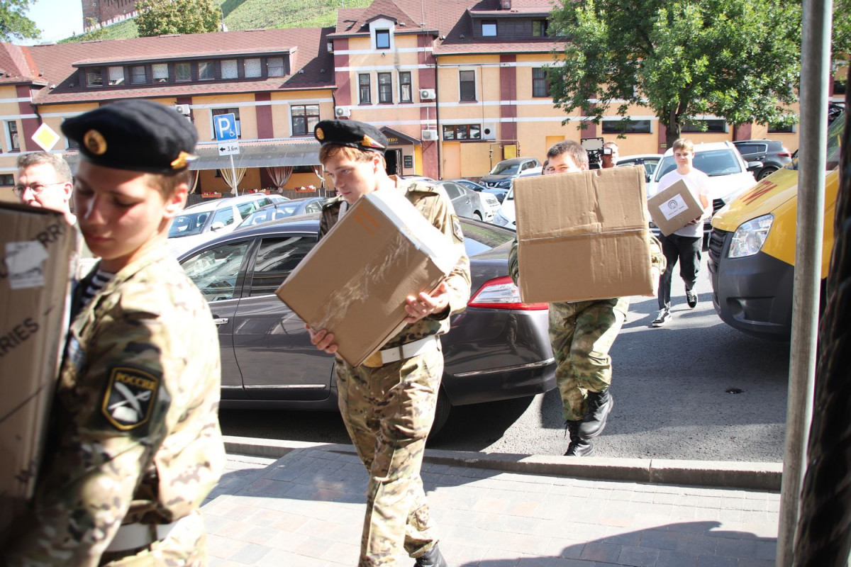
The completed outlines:
<svg viewBox="0 0 851 567">
<path fill-rule="evenodd" d="M 216 328 L 167 248 L 77 310 L 10 564 L 96 565 L 121 524 L 167 524 L 200 507 L 224 466 Z"/>
</svg>

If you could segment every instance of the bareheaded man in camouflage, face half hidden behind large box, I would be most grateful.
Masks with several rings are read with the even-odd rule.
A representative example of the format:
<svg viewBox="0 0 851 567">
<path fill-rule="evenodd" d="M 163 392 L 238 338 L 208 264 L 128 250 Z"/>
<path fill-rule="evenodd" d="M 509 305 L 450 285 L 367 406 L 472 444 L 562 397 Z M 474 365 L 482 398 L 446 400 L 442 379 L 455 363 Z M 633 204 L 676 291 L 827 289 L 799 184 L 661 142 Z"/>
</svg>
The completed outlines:
<svg viewBox="0 0 851 567">
<path fill-rule="evenodd" d="M 581 145 L 565 140 L 546 154 L 551 173 L 575 173 L 588 169 L 588 154 Z M 517 241 L 511 247 L 508 269 L 519 280 Z M 591 439 L 603 433 L 614 401 L 612 359 L 608 355 L 629 309 L 628 298 L 550 303 L 550 342 L 556 357 L 556 383 L 562 395 L 562 413 L 570 433 L 565 455 L 588 456 Z"/>
</svg>

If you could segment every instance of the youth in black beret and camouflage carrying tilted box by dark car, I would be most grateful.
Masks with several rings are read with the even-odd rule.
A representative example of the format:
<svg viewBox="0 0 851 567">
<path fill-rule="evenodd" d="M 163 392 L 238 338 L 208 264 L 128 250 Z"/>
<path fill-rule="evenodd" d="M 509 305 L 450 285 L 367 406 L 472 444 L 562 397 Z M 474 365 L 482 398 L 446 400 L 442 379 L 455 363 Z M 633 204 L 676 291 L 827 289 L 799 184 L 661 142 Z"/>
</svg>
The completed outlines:
<svg viewBox="0 0 851 567">
<path fill-rule="evenodd" d="M 442 189 L 408 184 L 387 175 L 387 139 L 378 128 L 363 122 L 328 120 L 319 122 L 314 134 L 322 143 L 319 161 L 340 194 L 323 207 L 320 238 L 361 196 L 388 190 L 402 192 L 460 247 L 458 264 L 435 292 L 408 297 L 408 325 L 380 352 L 357 367 L 337 357 L 335 366 L 340 412 L 369 473 L 358 565 L 396 564 L 404 548 L 420 567 L 445 566 L 420 466 L 443 376 L 443 352 L 437 336 L 448 332 L 449 316 L 465 309 L 470 298 L 470 262 L 460 224 Z M 333 334 L 325 329 L 308 330 L 317 349 L 336 352 Z"/>
</svg>

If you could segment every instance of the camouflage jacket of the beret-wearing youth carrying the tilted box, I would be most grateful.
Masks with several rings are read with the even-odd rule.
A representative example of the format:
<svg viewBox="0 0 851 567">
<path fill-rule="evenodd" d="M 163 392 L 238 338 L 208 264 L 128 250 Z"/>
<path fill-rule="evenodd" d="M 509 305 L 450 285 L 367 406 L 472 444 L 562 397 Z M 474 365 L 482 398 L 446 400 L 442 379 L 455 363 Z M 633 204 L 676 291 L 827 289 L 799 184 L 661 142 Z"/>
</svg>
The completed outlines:
<svg viewBox="0 0 851 567">
<path fill-rule="evenodd" d="M 464 235 L 461 233 L 461 225 L 458 217 L 455 216 L 455 210 L 452 207 L 452 201 L 446 191 L 441 187 L 436 187 L 428 183 L 413 183 L 408 184 L 402 179 L 397 179 L 396 176 L 391 176 L 391 179 L 396 183 L 397 190 L 404 191 L 414 207 L 426 217 L 432 225 L 443 232 L 447 238 L 451 238 L 455 246 L 461 249 L 461 258 L 458 264 L 455 264 L 452 272 L 449 273 L 446 284 L 449 288 L 449 309 L 443 313 L 436 313 L 424 319 L 417 321 L 411 325 L 406 325 L 395 337 L 391 337 L 387 341 L 385 347 L 396 347 L 400 344 L 410 343 L 428 335 L 441 335 L 449 330 L 449 315 L 460 313 L 467 306 L 467 301 L 470 300 L 470 259 L 464 249 Z M 331 201 L 325 203 L 322 211 L 322 218 L 319 221 L 319 238 L 328 234 L 328 230 L 336 224 L 340 217 L 340 205 L 343 203 L 342 197 L 334 197 Z"/>
</svg>

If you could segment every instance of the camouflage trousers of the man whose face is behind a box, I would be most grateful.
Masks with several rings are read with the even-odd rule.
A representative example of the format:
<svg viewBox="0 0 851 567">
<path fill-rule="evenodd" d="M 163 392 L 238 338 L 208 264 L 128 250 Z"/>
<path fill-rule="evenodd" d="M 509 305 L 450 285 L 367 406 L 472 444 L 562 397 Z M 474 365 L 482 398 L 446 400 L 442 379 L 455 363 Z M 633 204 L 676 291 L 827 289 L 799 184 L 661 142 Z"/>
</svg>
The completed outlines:
<svg viewBox="0 0 851 567">
<path fill-rule="evenodd" d="M 626 309 L 627 298 L 550 303 L 550 343 L 565 420 L 585 417 L 588 392 L 603 392 L 611 385 L 608 349 L 624 324 Z"/>
</svg>

